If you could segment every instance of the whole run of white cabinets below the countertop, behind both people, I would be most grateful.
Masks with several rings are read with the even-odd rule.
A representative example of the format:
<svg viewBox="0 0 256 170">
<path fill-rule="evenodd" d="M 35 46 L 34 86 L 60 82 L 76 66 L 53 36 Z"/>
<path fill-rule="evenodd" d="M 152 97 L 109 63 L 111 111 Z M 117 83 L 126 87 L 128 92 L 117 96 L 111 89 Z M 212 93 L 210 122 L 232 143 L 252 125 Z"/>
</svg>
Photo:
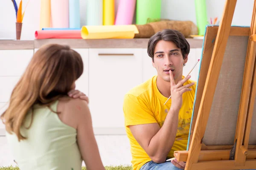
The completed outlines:
<svg viewBox="0 0 256 170">
<path fill-rule="evenodd" d="M 125 134 L 123 98 L 131 88 L 157 75 L 146 48 L 73 48 L 82 57 L 84 71 L 76 89 L 89 96 L 89 107 L 96 134 Z M 0 114 L 26 69 L 35 50 L 0 51 Z M 183 75 L 189 73 L 202 48 L 191 48 Z M 191 72 L 197 81 L 200 63 Z M 4 135 L 0 122 L 0 136 Z"/>
</svg>

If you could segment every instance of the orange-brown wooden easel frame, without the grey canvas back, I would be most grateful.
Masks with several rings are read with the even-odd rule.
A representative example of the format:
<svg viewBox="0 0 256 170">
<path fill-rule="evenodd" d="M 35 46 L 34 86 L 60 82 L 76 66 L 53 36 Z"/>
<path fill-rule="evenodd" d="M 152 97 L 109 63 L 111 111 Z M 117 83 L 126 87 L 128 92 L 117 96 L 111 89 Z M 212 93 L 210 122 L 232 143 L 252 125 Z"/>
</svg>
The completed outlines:
<svg viewBox="0 0 256 170">
<path fill-rule="evenodd" d="M 215 45 L 204 42 L 203 56 L 211 56 L 208 65 L 201 65 L 201 69 L 208 72 L 201 73 L 199 89 L 195 103 L 193 122 L 191 126 L 189 150 L 175 151 L 178 161 L 186 161 L 185 170 L 239 170 L 256 169 L 256 145 L 249 145 L 250 129 L 256 98 L 256 0 L 250 28 L 231 27 L 236 0 L 226 0 L 223 16 L 219 27 L 212 27 L 217 31 Z M 211 35 L 207 35 L 206 37 Z M 229 36 L 248 36 L 247 54 L 244 64 L 244 75 L 241 88 L 241 98 L 237 116 L 236 134 L 233 145 L 211 145 L 203 143 L 213 96 L 221 70 Z M 212 37 L 214 38 L 214 36 Z M 209 49 L 212 48 L 213 51 Z M 203 61 L 202 61 L 203 62 Z M 204 84 L 205 83 L 205 84 Z M 256 107 L 256 106 L 255 106 Z M 255 108 L 256 109 L 256 108 Z M 256 123 L 256 122 L 254 122 Z M 253 125 L 253 127 L 255 124 Z"/>
</svg>

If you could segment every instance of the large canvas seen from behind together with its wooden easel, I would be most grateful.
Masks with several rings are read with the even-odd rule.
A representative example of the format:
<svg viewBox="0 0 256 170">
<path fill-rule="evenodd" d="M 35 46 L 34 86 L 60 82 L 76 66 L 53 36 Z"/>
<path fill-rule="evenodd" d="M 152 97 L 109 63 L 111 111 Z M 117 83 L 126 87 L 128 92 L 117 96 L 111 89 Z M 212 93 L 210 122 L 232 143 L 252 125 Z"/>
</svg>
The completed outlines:
<svg viewBox="0 0 256 170">
<path fill-rule="evenodd" d="M 235 7 L 206 28 L 185 170 L 256 169 L 256 0 L 250 27 L 231 27 Z"/>
</svg>

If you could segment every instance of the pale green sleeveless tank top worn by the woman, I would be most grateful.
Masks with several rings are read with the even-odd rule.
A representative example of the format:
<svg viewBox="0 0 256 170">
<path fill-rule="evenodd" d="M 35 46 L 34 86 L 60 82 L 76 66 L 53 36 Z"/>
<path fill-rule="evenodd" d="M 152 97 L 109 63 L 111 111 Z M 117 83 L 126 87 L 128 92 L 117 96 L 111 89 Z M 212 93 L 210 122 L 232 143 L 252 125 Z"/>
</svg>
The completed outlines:
<svg viewBox="0 0 256 170">
<path fill-rule="evenodd" d="M 50 107 L 57 111 L 58 101 Z M 81 170 L 81 154 L 76 129 L 65 125 L 57 113 L 47 107 L 34 106 L 26 116 L 20 133 L 27 137 L 18 142 L 15 133 L 6 132 L 12 155 L 20 170 Z"/>
</svg>

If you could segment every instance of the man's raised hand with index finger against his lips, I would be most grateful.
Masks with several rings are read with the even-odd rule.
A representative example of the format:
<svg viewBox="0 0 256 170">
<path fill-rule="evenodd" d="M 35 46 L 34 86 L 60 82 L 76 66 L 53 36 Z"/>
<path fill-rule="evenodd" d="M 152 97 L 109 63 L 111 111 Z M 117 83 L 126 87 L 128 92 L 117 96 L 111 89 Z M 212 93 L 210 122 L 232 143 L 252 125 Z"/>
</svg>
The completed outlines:
<svg viewBox="0 0 256 170">
<path fill-rule="evenodd" d="M 190 75 L 188 75 L 187 77 L 185 77 L 184 79 L 179 81 L 176 85 L 175 81 L 174 81 L 174 78 L 173 78 L 173 75 L 172 75 L 172 71 L 169 71 L 169 75 L 170 75 L 171 97 L 172 97 L 171 108 L 175 108 L 177 110 L 180 110 L 180 108 L 182 106 L 182 95 L 183 95 L 183 93 L 185 93 L 186 91 L 191 91 L 192 89 L 189 88 L 189 87 L 191 87 L 195 83 L 192 82 L 192 83 L 189 83 L 189 84 L 183 86 L 183 84 L 186 81 L 188 81 L 188 79 L 191 77 Z"/>
</svg>

